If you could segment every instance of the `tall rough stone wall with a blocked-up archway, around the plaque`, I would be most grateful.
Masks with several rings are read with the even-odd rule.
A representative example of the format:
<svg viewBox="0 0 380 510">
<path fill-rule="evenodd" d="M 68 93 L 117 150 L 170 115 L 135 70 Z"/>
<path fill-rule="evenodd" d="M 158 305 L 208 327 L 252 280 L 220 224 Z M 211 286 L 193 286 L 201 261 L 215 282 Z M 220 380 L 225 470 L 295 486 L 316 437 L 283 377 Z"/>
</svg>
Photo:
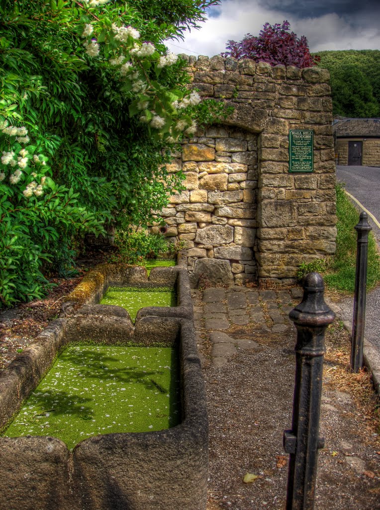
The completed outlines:
<svg viewBox="0 0 380 510">
<path fill-rule="evenodd" d="M 328 71 L 182 57 L 201 96 L 234 107 L 168 165 L 183 171 L 186 190 L 162 217 L 168 236 L 186 242 L 192 286 L 294 278 L 302 262 L 335 251 Z M 289 173 L 290 129 L 314 131 L 313 172 Z"/>
</svg>

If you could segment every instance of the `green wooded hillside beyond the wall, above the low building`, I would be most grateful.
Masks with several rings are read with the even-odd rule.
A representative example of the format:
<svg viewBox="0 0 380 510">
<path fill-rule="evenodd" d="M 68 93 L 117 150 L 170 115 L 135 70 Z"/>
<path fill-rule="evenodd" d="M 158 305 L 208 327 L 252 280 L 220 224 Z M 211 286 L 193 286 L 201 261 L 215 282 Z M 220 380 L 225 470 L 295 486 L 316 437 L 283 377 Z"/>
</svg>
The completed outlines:
<svg viewBox="0 0 380 510">
<path fill-rule="evenodd" d="M 318 66 L 330 72 L 334 115 L 380 115 L 380 50 L 334 50 L 318 55 Z"/>
</svg>

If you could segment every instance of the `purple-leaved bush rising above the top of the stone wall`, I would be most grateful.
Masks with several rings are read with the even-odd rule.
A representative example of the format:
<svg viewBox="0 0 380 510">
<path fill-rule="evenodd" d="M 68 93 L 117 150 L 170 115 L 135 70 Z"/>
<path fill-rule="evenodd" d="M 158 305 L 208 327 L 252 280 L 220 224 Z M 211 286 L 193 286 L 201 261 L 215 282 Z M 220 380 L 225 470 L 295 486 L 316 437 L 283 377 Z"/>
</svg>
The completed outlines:
<svg viewBox="0 0 380 510">
<path fill-rule="evenodd" d="M 258 37 L 247 34 L 240 42 L 228 41 L 227 52 L 222 55 L 267 62 L 272 66 L 283 64 L 304 68 L 316 65 L 319 59 L 311 56 L 306 37 L 298 38 L 289 29 L 288 21 L 283 21 L 282 25 L 265 23 Z"/>
</svg>

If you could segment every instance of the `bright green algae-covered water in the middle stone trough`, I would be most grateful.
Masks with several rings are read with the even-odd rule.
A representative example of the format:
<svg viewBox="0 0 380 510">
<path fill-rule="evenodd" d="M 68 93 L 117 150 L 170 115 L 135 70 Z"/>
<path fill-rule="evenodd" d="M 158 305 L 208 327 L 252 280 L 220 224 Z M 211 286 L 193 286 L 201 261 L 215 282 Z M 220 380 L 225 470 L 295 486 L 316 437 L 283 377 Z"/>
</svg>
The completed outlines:
<svg viewBox="0 0 380 510">
<path fill-rule="evenodd" d="M 170 287 L 108 287 L 100 304 L 117 304 L 125 308 L 132 321 L 144 307 L 175 307 L 177 297 Z"/>
</svg>

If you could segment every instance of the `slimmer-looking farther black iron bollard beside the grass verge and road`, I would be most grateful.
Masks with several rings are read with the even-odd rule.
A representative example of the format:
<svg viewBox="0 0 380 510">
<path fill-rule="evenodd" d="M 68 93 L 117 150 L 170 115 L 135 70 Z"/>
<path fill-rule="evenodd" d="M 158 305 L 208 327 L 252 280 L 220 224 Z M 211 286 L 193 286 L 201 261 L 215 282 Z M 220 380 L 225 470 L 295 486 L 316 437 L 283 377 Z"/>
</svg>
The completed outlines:
<svg viewBox="0 0 380 510">
<path fill-rule="evenodd" d="M 356 252 L 356 275 L 354 296 L 354 318 L 352 319 L 350 368 L 358 372 L 363 366 L 363 338 L 366 313 L 368 234 L 372 230 L 367 221 L 367 213 L 360 213 L 359 223 L 355 226 L 358 232 Z"/>
</svg>

